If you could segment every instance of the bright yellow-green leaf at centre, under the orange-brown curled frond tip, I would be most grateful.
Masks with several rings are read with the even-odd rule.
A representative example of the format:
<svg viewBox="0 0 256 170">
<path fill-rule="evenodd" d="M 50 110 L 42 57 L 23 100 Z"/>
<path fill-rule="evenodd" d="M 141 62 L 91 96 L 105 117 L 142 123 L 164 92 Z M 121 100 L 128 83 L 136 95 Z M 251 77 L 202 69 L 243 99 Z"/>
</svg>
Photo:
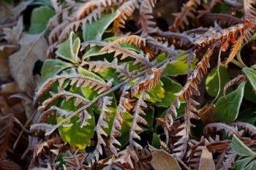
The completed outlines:
<svg viewBox="0 0 256 170">
<path fill-rule="evenodd" d="M 162 101 L 162 98 L 165 97 L 165 89 L 162 88 L 163 85 L 164 84 L 161 81 L 159 81 L 159 82 L 157 82 L 156 87 L 147 91 L 146 93 L 148 93 L 150 98 L 146 99 L 146 101 L 151 101 L 153 103 L 155 103 L 157 101 Z"/>
</svg>

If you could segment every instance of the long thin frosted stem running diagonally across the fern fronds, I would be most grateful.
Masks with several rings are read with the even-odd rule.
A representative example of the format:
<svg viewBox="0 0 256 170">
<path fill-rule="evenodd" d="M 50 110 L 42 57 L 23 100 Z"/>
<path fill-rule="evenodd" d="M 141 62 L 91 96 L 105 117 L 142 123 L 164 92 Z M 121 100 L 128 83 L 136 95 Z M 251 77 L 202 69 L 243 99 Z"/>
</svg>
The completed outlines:
<svg viewBox="0 0 256 170">
<path fill-rule="evenodd" d="M 173 58 L 167 58 L 165 59 L 165 61 L 162 61 L 160 63 L 157 63 L 156 65 L 154 65 L 153 67 L 154 68 L 159 68 L 161 67 L 162 65 L 164 65 L 165 63 L 168 63 L 170 62 L 171 60 L 174 60 L 176 58 L 179 58 L 187 53 L 190 53 L 192 50 L 194 50 L 195 47 L 192 47 L 191 49 L 187 50 L 187 51 L 184 51 L 184 53 L 181 53 L 181 54 L 178 54 L 176 56 L 173 56 Z M 152 67 L 152 68 L 153 68 Z M 45 135 L 50 135 L 51 133 L 53 133 L 53 131 L 55 131 L 56 128 L 58 128 L 60 125 L 64 124 L 67 122 L 67 120 L 69 120 L 71 117 L 74 117 L 75 115 L 77 115 L 78 113 L 82 112 L 83 109 L 86 109 L 88 107 L 90 107 L 92 104 L 94 104 L 96 101 L 99 100 L 99 98 L 102 98 L 103 96 L 106 96 L 108 95 L 109 93 L 112 93 L 113 91 L 117 90 L 118 88 L 121 88 L 121 86 L 123 85 L 126 85 L 127 83 L 129 82 L 132 82 L 132 80 L 135 80 L 137 79 L 138 77 L 141 77 L 143 76 L 143 74 L 146 74 L 146 72 L 149 72 L 151 71 L 152 68 L 149 68 L 149 69 L 146 69 L 144 70 L 143 72 L 140 72 L 139 74 L 135 75 L 134 77 L 131 77 L 129 78 L 128 80 L 125 80 L 124 82 L 121 82 L 120 84 L 114 86 L 113 88 L 110 88 L 109 90 L 105 91 L 104 93 L 101 93 L 99 96 L 97 96 L 96 98 L 94 98 L 93 100 L 91 100 L 88 104 L 86 104 L 85 106 L 83 107 L 80 107 L 80 109 L 78 109 L 77 111 L 75 112 L 72 112 L 72 114 L 70 114 L 68 117 L 64 118 L 64 120 L 61 120 L 61 122 L 57 123 L 56 125 L 53 125 L 53 128 L 50 129 L 50 131 L 47 131 L 45 133 Z"/>
</svg>

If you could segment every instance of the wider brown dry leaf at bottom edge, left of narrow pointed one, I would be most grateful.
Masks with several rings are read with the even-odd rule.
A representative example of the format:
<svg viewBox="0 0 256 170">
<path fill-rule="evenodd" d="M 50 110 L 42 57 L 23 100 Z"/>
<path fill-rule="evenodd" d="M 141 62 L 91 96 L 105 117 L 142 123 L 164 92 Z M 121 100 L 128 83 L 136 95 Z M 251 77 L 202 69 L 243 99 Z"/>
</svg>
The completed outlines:
<svg viewBox="0 0 256 170">
<path fill-rule="evenodd" d="M 157 150 L 150 147 L 152 152 L 151 165 L 156 170 L 181 170 L 178 162 L 172 155 L 165 152 L 165 150 Z"/>
</svg>

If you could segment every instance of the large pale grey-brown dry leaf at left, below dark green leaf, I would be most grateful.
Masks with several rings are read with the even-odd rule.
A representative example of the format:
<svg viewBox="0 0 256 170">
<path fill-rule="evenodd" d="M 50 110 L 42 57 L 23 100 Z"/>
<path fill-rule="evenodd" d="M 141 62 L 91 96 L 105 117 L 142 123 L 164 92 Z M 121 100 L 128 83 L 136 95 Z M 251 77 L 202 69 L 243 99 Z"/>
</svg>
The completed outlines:
<svg viewBox="0 0 256 170">
<path fill-rule="evenodd" d="M 23 34 L 19 42 L 20 50 L 9 58 L 12 77 L 18 83 L 20 89 L 28 93 L 29 96 L 34 95 L 34 89 L 37 87 L 33 75 L 34 63 L 38 60 L 45 61 L 46 50 L 48 49 L 45 38 L 41 37 L 30 50 L 38 36 L 37 34 Z"/>
</svg>

